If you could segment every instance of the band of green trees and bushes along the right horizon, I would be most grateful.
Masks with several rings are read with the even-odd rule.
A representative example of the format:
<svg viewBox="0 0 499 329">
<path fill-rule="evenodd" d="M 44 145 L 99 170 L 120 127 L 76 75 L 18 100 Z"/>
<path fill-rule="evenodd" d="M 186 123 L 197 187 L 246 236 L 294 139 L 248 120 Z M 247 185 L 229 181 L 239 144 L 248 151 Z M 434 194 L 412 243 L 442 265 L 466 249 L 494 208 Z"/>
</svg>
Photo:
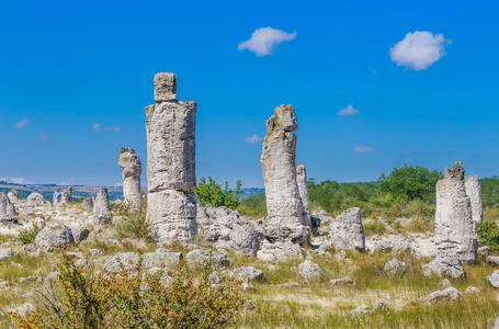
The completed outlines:
<svg viewBox="0 0 499 329">
<path fill-rule="evenodd" d="M 435 185 L 443 178 L 438 170 L 419 166 L 394 168 L 381 173 L 375 182 L 338 183 L 308 180 L 311 212 L 326 211 L 336 217 L 350 207 L 360 207 L 363 218 L 413 218 L 423 224 L 434 219 Z M 499 177 L 480 180 L 485 219 L 499 218 Z M 251 195 L 238 206 L 241 215 L 253 218 L 266 215 L 265 195 Z"/>
</svg>

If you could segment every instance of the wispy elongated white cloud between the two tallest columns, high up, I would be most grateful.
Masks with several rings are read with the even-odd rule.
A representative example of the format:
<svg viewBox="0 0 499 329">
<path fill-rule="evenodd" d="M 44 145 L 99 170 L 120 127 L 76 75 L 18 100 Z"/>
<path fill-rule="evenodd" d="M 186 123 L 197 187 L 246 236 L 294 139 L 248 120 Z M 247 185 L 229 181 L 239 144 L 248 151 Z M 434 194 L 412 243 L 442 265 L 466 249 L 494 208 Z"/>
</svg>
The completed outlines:
<svg viewBox="0 0 499 329">
<path fill-rule="evenodd" d="M 285 41 L 291 41 L 296 37 L 296 32 L 286 33 L 272 27 L 261 27 L 251 34 L 251 38 L 240 43 L 237 48 L 239 50 L 248 49 L 257 54 L 257 56 L 266 56 L 272 54 L 273 49 Z"/>
</svg>

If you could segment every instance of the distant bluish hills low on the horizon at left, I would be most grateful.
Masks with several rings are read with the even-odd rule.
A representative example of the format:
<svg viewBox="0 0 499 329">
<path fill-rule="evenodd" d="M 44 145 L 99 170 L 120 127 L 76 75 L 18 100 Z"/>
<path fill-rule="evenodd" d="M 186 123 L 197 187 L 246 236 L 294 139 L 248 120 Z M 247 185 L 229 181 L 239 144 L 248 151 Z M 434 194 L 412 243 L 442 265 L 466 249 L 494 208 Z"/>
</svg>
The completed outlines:
<svg viewBox="0 0 499 329">
<path fill-rule="evenodd" d="M 56 189 L 60 191 L 67 189 L 67 185 L 56 185 L 56 184 L 14 184 L 8 183 L 4 181 L 0 181 L 0 192 L 4 192 L 5 194 L 12 190 L 16 190 L 19 192 L 20 198 L 26 198 L 31 193 L 38 192 L 42 194 L 45 200 L 52 201 L 54 196 L 54 192 Z M 71 185 L 72 188 L 72 197 L 73 198 L 82 198 L 94 196 L 100 189 L 107 188 L 107 193 L 110 195 L 110 200 L 117 200 L 123 198 L 123 188 L 122 186 L 82 186 L 82 185 Z M 145 188 L 143 188 L 145 189 Z M 259 188 L 248 188 L 241 189 L 242 194 L 241 198 L 246 198 L 251 195 L 257 195 L 260 193 L 264 193 L 265 189 Z"/>
</svg>

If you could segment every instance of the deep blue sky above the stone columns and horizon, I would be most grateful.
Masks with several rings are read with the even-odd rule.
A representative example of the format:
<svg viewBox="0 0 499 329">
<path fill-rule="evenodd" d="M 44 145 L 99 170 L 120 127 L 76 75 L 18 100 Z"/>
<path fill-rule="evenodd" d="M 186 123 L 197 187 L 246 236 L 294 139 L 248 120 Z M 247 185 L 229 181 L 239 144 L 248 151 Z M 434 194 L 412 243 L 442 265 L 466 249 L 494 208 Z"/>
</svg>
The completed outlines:
<svg viewBox="0 0 499 329">
<path fill-rule="evenodd" d="M 261 143 L 247 138 L 283 103 L 298 117 L 297 162 L 319 181 L 456 160 L 499 174 L 497 12 L 492 1 L 2 1 L 0 178 L 114 185 L 127 146 L 145 183 L 144 109 L 161 71 L 197 102 L 199 178 L 263 186 Z M 239 46 L 262 27 L 268 43 Z"/>
</svg>

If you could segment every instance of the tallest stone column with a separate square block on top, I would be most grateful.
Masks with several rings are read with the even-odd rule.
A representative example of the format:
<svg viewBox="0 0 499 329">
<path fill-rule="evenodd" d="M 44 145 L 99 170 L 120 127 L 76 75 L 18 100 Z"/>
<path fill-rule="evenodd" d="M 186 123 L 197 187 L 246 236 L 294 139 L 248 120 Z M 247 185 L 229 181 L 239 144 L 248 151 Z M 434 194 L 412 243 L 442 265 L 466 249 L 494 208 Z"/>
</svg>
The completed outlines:
<svg viewBox="0 0 499 329">
<path fill-rule="evenodd" d="M 156 105 L 146 107 L 147 218 L 150 236 L 192 239 L 196 230 L 196 103 L 177 100 L 173 73 L 155 76 Z"/>
</svg>

